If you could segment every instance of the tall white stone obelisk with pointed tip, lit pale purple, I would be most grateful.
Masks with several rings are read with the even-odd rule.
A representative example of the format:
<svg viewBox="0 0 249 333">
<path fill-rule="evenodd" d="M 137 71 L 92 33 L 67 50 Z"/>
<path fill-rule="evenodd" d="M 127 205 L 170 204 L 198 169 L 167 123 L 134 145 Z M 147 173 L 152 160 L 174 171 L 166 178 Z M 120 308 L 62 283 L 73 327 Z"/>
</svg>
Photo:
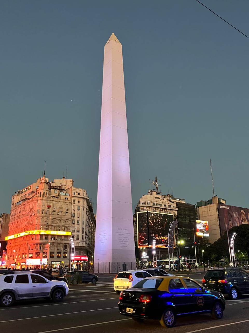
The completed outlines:
<svg viewBox="0 0 249 333">
<path fill-rule="evenodd" d="M 104 48 L 94 271 L 135 269 L 122 45 Z"/>
</svg>

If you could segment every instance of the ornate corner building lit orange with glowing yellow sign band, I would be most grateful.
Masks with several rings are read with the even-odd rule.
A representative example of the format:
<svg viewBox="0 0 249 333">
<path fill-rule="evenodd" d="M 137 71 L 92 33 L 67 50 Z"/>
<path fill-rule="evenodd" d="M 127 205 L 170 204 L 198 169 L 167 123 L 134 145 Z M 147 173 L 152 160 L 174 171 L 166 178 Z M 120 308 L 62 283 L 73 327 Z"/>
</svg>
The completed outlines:
<svg viewBox="0 0 249 333">
<path fill-rule="evenodd" d="M 12 196 L 7 267 L 69 266 L 71 197 L 48 178 Z"/>
</svg>

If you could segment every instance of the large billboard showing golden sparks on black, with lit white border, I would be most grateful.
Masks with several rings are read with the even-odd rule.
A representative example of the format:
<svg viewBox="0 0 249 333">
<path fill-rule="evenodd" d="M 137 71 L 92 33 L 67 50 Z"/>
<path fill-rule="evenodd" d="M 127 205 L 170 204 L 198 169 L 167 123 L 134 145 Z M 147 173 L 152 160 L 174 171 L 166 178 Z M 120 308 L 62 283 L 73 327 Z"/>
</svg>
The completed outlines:
<svg viewBox="0 0 249 333">
<path fill-rule="evenodd" d="M 149 247 L 156 239 L 157 247 L 167 247 L 170 224 L 173 214 L 156 213 L 152 211 L 137 212 L 137 245 Z"/>
</svg>

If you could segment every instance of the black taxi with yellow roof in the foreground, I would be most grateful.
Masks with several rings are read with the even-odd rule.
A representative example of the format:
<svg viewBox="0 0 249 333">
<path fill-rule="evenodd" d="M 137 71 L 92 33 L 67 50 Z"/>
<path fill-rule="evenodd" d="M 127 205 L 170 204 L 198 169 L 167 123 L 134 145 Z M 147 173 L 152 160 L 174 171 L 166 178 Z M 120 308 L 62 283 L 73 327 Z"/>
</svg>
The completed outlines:
<svg viewBox="0 0 249 333">
<path fill-rule="evenodd" d="M 217 291 L 202 287 L 183 276 L 148 277 L 122 291 L 119 310 L 135 321 L 157 319 L 163 327 L 172 327 L 177 316 L 211 313 L 221 319 L 225 298 Z"/>
</svg>

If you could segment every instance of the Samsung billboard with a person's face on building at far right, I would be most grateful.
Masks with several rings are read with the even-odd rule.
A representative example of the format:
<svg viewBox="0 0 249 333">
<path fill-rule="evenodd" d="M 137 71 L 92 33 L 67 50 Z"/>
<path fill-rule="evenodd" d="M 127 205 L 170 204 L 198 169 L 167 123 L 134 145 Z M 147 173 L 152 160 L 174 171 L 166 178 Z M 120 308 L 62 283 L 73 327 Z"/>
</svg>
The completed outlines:
<svg viewBox="0 0 249 333">
<path fill-rule="evenodd" d="M 249 224 L 249 209 L 243 207 L 218 204 L 221 235 L 234 226 Z"/>
</svg>

